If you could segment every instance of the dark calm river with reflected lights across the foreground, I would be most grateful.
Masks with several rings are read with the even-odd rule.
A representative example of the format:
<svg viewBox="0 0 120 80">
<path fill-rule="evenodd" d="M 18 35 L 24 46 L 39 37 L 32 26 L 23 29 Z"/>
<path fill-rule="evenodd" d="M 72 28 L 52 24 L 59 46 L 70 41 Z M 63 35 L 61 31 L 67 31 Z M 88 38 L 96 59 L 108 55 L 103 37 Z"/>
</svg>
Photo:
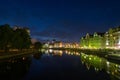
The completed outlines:
<svg viewBox="0 0 120 80">
<path fill-rule="evenodd" d="M 120 80 L 120 63 L 85 53 L 43 50 L 1 59 L 0 80 Z"/>
</svg>

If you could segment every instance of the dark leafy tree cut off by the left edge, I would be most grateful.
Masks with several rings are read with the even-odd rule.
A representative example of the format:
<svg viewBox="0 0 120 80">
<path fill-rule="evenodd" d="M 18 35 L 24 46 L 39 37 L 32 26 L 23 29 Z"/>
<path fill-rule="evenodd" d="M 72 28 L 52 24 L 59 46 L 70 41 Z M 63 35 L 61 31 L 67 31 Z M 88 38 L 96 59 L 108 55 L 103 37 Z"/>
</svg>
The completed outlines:
<svg viewBox="0 0 120 80">
<path fill-rule="evenodd" d="M 0 49 L 8 51 L 12 44 L 13 30 L 8 24 L 0 26 Z"/>
</svg>

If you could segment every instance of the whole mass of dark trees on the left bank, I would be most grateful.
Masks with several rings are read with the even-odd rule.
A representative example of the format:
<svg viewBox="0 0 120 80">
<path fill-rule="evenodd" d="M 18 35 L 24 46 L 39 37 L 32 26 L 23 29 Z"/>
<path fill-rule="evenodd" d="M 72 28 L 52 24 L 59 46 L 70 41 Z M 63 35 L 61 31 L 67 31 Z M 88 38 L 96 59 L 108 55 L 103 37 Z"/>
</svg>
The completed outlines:
<svg viewBox="0 0 120 80">
<path fill-rule="evenodd" d="M 0 25 L 0 50 L 28 49 L 31 38 L 26 29 L 13 29 L 8 24 Z"/>
</svg>

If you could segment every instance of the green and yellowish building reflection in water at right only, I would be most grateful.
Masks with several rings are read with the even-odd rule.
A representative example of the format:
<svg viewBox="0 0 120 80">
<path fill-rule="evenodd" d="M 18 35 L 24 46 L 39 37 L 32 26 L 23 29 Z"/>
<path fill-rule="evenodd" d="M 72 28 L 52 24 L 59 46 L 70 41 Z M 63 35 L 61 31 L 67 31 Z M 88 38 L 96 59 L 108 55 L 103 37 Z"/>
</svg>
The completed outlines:
<svg viewBox="0 0 120 80">
<path fill-rule="evenodd" d="M 90 66 L 93 66 L 97 72 L 105 70 L 114 80 L 116 80 L 116 78 L 120 79 L 119 64 L 108 62 L 103 58 L 99 58 L 93 55 L 86 55 L 84 53 L 81 53 L 81 60 L 83 64 L 86 64 L 88 69 L 90 69 Z"/>
</svg>

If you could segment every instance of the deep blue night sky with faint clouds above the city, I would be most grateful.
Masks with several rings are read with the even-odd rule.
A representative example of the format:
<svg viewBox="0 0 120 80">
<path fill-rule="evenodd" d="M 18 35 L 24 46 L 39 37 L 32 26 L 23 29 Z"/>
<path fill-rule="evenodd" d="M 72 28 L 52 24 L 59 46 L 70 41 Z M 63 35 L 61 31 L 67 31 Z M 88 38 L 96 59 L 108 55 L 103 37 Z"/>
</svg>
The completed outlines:
<svg viewBox="0 0 120 80">
<path fill-rule="evenodd" d="M 0 0 L 0 25 L 25 26 L 38 40 L 77 41 L 120 25 L 120 0 Z"/>
</svg>

